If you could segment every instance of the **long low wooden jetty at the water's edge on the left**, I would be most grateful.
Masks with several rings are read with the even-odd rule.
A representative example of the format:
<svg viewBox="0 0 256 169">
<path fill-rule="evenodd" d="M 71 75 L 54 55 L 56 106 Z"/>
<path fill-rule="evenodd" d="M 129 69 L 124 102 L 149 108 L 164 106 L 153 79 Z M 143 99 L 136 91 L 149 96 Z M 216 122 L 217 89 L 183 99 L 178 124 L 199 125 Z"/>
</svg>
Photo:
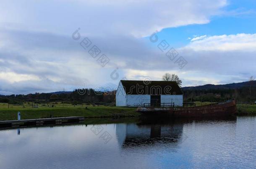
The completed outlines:
<svg viewBox="0 0 256 169">
<path fill-rule="evenodd" d="M 45 119 L 9 120 L 0 121 L 0 129 L 19 128 L 29 126 L 60 125 L 83 123 L 84 117 L 55 117 Z"/>
</svg>

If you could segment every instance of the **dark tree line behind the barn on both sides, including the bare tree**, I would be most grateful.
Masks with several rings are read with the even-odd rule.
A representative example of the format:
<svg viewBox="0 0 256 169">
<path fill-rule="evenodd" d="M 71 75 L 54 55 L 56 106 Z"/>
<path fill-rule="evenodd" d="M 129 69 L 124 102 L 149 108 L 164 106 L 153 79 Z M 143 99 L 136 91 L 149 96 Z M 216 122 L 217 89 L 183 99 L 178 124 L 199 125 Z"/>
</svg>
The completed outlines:
<svg viewBox="0 0 256 169">
<path fill-rule="evenodd" d="M 182 81 L 175 74 L 165 73 L 162 76 L 163 81 L 176 81 L 179 86 Z M 183 100 L 185 102 L 193 101 L 212 101 L 220 102 L 231 98 L 236 98 L 237 101 L 248 102 L 256 101 L 256 81 L 251 77 L 245 86 L 238 88 L 206 88 L 198 89 L 181 88 L 183 92 Z M 238 84 L 238 83 L 234 83 Z M 200 87 L 200 86 L 198 86 Z M 27 95 L 9 95 L 1 96 L 1 103 L 22 104 L 24 102 L 47 103 L 52 101 L 62 101 L 67 103 L 115 103 L 115 91 L 100 92 L 91 88 L 76 89 L 72 92 L 57 92 L 57 93 L 34 93 Z"/>
</svg>

